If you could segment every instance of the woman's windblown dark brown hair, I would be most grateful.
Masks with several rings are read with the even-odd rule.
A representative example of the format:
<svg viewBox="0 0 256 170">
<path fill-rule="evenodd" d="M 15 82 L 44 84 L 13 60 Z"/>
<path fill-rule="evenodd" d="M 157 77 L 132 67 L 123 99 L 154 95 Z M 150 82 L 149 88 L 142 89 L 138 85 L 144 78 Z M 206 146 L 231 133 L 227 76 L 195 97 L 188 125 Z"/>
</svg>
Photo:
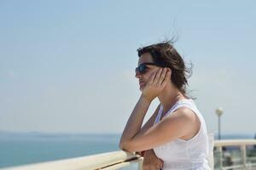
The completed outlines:
<svg viewBox="0 0 256 170">
<path fill-rule="evenodd" d="M 173 84 L 183 94 L 186 94 L 186 88 L 188 84 L 188 78 L 192 75 L 192 63 L 191 67 L 186 67 L 183 58 L 177 53 L 177 50 L 173 47 L 172 40 L 155 43 L 143 48 L 138 48 L 138 56 L 149 53 L 152 55 L 154 63 L 169 67 L 172 70 L 171 80 Z"/>
</svg>

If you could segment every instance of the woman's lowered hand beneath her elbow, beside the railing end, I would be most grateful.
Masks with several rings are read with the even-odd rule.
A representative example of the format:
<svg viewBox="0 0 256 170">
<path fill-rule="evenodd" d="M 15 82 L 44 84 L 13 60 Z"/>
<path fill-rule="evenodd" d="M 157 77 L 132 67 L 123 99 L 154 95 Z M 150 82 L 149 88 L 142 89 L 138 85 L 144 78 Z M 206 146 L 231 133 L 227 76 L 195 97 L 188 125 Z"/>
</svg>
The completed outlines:
<svg viewBox="0 0 256 170">
<path fill-rule="evenodd" d="M 160 170 L 164 167 L 164 161 L 155 156 L 154 150 L 146 150 L 143 157 L 143 170 Z"/>
</svg>

